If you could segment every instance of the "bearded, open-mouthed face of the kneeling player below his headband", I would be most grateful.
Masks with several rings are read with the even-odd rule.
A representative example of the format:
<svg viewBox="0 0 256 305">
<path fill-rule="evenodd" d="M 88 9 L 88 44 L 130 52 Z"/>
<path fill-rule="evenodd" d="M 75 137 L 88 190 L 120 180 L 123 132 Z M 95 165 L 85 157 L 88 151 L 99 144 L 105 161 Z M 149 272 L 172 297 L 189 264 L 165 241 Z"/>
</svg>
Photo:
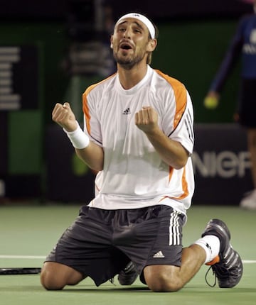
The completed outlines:
<svg viewBox="0 0 256 305">
<path fill-rule="evenodd" d="M 127 69 L 146 61 L 149 40 L 149 30 L 144 23 L 135 18 L 125 18 L 115 26 L 112 35 L 114 59 Z"/>
</svg>

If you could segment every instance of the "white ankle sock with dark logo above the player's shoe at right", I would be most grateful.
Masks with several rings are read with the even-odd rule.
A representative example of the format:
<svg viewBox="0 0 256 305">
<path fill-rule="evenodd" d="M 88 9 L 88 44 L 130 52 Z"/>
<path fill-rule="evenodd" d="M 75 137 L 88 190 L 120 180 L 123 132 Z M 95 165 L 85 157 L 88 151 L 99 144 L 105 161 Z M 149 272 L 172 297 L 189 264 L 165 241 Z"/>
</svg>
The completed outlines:
<svg viewBox="0 0 256 305">
<path fill-rule="evenodd" d="M 196 245 L 200 245 L 203 250 L 206 251 L 206 261 L 204 262 L 210 262 L 215 258 L 218 253 L 220 253 L 220 240 L 215 235 L 205 235 L 202 238 L 199 238 L 194 243 Z"/>
</svg>

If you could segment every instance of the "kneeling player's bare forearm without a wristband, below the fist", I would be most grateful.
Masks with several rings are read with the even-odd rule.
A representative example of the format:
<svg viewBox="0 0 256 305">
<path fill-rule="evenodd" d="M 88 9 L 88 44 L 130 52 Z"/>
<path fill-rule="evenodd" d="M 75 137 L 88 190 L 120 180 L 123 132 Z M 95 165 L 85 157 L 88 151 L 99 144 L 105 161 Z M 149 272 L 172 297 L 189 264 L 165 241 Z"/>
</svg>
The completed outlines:
<svg viewBox="0 0 256 305">
<path fill-rule="evenodd" d="M 146 136 L 161 159 L 169 166 L 179 170 L 186 165 L 188 152 L 181 143 L 168 138 L 159 128 L 151 133 L 146 133 Z"/>
</svg>

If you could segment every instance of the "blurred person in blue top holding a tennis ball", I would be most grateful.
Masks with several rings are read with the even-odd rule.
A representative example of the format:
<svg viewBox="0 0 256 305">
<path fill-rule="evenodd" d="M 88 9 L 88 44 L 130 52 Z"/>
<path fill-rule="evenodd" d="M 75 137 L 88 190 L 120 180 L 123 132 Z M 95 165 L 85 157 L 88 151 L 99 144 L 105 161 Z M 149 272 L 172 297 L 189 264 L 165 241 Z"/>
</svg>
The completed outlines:
<svg viewBox="0 0 256 305">
<path fill-rule="evenodd" d="M 245 194 L 240 206 L 245 209 L 256 209 L 256 0 L 250 2 L 255 13 L 242 16 L 240 19 L 233 40 L 210 85 L 204 106 L 208 109 L 215 109 L 218 106 L 220 92 L 242 55 L 240 94 L 235 121 L 247 130 L 247 148 L 251 156 L 254 189 Z"/>
</svg>

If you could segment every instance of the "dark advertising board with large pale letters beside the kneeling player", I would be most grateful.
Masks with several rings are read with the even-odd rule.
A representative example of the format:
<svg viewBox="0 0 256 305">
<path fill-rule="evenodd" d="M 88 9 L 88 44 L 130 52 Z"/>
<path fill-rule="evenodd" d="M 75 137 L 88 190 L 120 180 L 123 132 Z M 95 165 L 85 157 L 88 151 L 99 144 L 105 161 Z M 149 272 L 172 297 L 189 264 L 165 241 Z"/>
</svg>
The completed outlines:
<svg viewBox="0 0 256 305">
<path fill-rule="evenodd" d="M 198 124 L 193 167 L 195 204 L 239 204 L 252 187 L 245 130 L 237 124 Z"/>
</svg>

